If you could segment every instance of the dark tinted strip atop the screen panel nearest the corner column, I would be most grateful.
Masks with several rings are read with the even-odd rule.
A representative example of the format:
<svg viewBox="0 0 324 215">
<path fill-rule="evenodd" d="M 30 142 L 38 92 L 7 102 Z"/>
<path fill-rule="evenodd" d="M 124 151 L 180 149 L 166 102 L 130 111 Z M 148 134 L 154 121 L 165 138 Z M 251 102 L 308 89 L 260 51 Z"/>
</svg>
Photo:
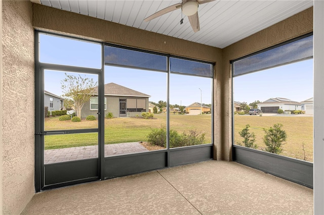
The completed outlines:
<svg viewBox="0 0 324 215">
<path fill-rule="evenodd" d="M 213 66 L 211 64 L 178 58 L 170 58 L 171 72 L 213 77 L 212 69 Z"/>
</svg>

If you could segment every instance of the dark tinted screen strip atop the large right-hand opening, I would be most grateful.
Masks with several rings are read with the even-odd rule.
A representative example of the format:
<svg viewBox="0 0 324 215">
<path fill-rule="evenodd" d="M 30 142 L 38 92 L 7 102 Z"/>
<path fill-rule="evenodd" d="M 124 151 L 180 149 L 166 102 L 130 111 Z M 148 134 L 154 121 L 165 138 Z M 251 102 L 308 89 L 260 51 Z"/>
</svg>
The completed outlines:
<svg viewBox="0 0 324 215">
<path fill-rule="evenodd" d="M 233 76 L 269 69 L 289 64 L 313 56 L 313 36 L 257 53 L 256 55 L 234 61 Z"/>
</svg>

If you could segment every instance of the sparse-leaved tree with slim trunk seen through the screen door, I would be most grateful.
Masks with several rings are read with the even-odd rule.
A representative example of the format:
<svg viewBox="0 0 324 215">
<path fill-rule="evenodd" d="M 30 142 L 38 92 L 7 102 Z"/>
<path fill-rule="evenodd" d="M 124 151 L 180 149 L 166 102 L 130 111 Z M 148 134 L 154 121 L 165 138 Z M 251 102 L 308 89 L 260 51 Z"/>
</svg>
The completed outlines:
<svg viewBox="0 0 324 215">
<path fill-rule="evenodd" d="M 63 96 L 72 99 L 75 105 L 76 116 L 81 117 L 83 105 L 93 96 L 97 82 L 93 78 L 74 76 L 65 73 L 65 78 L 61 81 Z"/>
</svg>

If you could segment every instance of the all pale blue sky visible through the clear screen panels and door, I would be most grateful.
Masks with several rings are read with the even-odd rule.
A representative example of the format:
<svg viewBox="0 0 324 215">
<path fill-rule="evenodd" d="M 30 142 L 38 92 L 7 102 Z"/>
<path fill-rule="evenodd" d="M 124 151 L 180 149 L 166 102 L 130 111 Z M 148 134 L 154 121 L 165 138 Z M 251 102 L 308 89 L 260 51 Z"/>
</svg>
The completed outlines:
<svg viewBox="0 0 324 215">
<path fill-rule="evenodd" d="M 41 34 L 39 61 L 68 66 L 101 68 L 101 45 Z M 167 100 L 167 73 L 105 66 L 105 84 L 113 82 L 150 95 L 150 101 Z M 72 73 L 71 73 L 72 74 Z M 85 74 L 82 74 L 85 76 Z M 45 71 L 45 90 L 62 95 L 64 72 Z M 94 78 L 97 75 L 86 74 Z M 303 101 L 313 97 L 312 59 L 233 79 L 233 100 L 251 103 L 283 97 Z M 170 75 L 170 104 L 212 103 L 212 79 Z"/>
</svg>

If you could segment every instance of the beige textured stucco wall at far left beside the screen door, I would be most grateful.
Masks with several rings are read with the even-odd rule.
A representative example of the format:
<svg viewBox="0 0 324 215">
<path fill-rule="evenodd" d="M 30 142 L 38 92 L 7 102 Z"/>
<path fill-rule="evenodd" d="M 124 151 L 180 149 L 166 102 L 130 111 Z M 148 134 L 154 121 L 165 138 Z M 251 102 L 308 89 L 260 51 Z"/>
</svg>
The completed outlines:
<svg viewBox="0 0 324 215">
<path fill-rule="evenodd" d="M 34 32 L 29 1 L 2 1 L 2 214 L 34 195 Z"/>
</svg>

